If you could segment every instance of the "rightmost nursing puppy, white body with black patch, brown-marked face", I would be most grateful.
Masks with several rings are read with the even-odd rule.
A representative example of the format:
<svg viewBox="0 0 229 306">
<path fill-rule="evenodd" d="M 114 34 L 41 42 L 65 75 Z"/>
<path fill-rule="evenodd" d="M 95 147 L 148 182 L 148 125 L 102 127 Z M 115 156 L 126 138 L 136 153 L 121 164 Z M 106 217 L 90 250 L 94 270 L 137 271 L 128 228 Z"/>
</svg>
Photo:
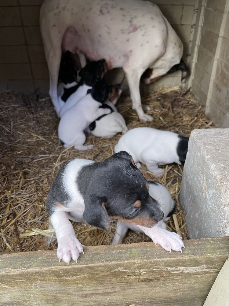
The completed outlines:
<svg viewBox="0 0 229 306">
<path fill-rule="evenodd" d="M 122 90 L 120 87 L 115 87 L 115 95 L 111 98 L 110 101 L 107 101 L 102 106 L 103 108 L 108 108 L 111 110 L 111 113 L 108 115 L 102 115 L 93 121 L 86 132 L 92 133 L 97 137 L 112 137 L 117 133 L 122 132 L 123 134 L 128 131 L 127 126 L 125 124 L 125 120 L 121 114 L 118 113 L 115 104 L 120 97 Z"/>
</svg>

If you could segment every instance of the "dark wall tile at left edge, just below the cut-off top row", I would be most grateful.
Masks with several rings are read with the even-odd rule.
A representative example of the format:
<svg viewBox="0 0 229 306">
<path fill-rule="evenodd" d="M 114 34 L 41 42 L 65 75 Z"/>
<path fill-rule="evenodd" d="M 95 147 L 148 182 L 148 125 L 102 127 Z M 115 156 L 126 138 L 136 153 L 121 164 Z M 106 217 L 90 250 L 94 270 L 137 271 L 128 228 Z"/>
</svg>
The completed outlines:
<svg viewBox="0 0 229 306">
<path fill-rule="evenodd" d="M 0 27 L 12 27 L 21 25 L 19 6 L 1 7 Z"/>
</svg>

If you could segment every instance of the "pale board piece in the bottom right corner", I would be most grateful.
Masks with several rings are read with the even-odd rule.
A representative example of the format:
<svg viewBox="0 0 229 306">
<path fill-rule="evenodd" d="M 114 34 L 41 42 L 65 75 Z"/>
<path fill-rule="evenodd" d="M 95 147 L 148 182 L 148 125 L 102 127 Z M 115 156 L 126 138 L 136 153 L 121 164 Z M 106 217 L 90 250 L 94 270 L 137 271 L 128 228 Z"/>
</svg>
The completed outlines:
<svg viewBox="0 0 229 306">
<path fill-rule="evenodd" d="M 229 257 L 225 261 L 218 274 L 212 289 L 209 292 L 204 306 L 228 306 L 229 305 Z"/>
</svg>

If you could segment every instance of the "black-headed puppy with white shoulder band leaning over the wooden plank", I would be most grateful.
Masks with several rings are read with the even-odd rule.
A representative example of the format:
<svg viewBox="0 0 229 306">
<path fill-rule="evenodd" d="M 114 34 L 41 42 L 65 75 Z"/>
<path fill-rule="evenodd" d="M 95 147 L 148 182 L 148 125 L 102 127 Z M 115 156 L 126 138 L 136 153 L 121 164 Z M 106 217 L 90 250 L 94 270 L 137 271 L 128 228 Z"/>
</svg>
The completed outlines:
<svg viewBox="0 0 229 306">
<path fill-rule="evenodd" d="M 83 253 L 69 219 L 110 230 L 109 218 L 151 227 L 164 217 L 147 181 L 124 151 L 103 162 L 65 163 L 50 187 L 46 208 L 56 232 L 57 257 L 67 264 Z"/>
</svg>

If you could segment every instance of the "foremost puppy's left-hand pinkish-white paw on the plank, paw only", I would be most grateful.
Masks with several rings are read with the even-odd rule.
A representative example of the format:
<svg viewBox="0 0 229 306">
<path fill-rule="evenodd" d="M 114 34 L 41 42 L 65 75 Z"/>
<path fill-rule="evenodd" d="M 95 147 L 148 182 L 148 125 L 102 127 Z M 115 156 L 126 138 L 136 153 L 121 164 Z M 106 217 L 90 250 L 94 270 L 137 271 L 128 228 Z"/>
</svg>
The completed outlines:
<svg viewBox="0 0 229 306">
<path fill-rule="evenodd" d="M 83 247 L 76 237 L 67 238 L 65 241 L 58 243 L 57 257 L 59 261 L 62 259 L 69 264 L 71 259 L 73 259 L 77 262 L 80 253 L 84 254 Z"/>
</svg>

